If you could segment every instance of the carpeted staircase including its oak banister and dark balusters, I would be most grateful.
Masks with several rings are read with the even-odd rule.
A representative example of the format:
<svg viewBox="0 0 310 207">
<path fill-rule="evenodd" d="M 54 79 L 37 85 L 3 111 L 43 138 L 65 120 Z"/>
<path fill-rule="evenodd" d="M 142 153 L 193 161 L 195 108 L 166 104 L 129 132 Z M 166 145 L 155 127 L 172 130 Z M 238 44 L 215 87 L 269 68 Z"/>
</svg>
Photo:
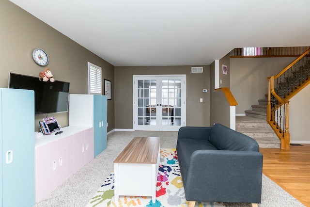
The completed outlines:
<svg viewBox="0 0 310 207">
<path fill-rule="evenodd" d="M 290 150 L 289 100 L 310 84 L 310 48 L 267 79 L 268 95 L 245 111 L 245 117 L 236 116 L 236 131 L 252 137 L 262 148 Z"/>
</svg>

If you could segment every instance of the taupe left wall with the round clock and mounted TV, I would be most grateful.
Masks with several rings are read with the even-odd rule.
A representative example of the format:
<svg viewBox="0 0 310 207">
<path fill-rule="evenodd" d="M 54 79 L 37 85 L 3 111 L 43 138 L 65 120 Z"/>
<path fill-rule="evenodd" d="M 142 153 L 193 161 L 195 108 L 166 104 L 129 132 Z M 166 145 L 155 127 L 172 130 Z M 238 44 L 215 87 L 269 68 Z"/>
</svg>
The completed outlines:
<svg viewBox="0 0 310 207">
<path fill-rule="evenodd" d="M 49 67 L 55 80 L 70 82 L 70 94 L 88 93 L 87 62 L 102 67 L 102 79 L 114 82 L 114 66 L 75 43 L 62 33 L 25 12 L 8 0 L 0 0 L 0 87 L 7 88 L 8 73 L 38 76 L 41 67 L 32 60 L 32 51 L 42 48 L 47 52 Z M 68 126 L 68 113 L 54 116 L 62 127 Z M 38 121 L 45 115 L 35 117 Z M 108 131 L 114 128 L 114 97 L 108 101 Z"/>
</svg>

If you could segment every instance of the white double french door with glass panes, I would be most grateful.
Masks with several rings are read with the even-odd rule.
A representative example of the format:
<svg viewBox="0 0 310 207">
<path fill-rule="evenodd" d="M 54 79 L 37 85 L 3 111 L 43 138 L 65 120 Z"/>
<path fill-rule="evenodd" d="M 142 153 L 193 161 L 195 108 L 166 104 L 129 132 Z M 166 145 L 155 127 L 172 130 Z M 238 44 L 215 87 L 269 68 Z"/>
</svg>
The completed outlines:
<svg viewBox="0 0 310 207">
<path fill-rule="evenodd" d="M 186 126 L 186 75 L 133 76 L 134 130 L 178 131 Z"/>
</svg>

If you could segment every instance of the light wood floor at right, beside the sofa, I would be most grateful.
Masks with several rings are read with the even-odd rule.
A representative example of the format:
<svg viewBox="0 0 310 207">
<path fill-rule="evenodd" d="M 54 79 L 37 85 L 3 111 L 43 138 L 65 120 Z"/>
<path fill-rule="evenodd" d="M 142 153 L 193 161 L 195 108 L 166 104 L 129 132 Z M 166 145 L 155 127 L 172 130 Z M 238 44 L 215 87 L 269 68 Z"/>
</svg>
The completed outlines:
<svg viewBox="0 0 310 207">
<path fill-rule="evenodd" d="M 310 144 L 291 146 L 290 151 L 261 148 L 263 174 L 310 207 Z"/>
</svg>

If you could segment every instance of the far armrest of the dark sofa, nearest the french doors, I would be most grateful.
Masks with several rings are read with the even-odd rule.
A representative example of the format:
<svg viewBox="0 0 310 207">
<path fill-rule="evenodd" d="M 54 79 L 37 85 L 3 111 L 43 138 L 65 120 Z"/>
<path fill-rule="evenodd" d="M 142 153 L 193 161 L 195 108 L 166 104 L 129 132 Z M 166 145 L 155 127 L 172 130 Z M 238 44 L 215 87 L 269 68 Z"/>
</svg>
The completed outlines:
<svg viewBox="0 0 310 207">
<path fill-rule="evenodd" d="M 181 127 L 178 139 L 209 140 L 212 127 Z"/>
</svg>

